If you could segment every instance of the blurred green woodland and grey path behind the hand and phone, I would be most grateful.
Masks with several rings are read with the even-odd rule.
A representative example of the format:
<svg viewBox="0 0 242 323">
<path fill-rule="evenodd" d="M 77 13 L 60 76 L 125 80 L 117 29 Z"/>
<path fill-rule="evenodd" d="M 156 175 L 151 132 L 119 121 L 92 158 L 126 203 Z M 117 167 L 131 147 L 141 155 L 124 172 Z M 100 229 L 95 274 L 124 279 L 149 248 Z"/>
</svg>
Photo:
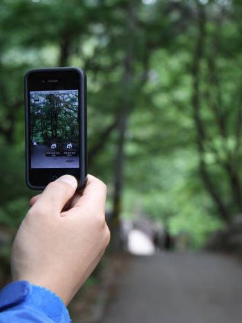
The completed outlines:
<svg viewBox="0 0 242 323">
<path fill-rule="evenodd" d="M 71 303 L 73 322 L 240 322 L 241 33 L 241 0 L 1 0 L 1 286 L 34 195 L 24 74 L 78 66 L 111 245 Z"/>
</svg>

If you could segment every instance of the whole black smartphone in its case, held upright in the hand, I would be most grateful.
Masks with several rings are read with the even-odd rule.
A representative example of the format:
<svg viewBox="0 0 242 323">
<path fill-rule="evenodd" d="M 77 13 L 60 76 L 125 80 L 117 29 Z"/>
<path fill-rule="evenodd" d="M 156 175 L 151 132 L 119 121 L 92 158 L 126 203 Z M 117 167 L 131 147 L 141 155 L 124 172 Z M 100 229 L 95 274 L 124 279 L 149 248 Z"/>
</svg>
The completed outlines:
<svg viewBox="0 0 242 323">
<path fill-rule="evenodd" d="M 24 78 L 26 183 L 43 190 L 59 176 L 84 187 L 86 163 L 86 75 L 77 67 L 37 68 Z"/>
</svg>

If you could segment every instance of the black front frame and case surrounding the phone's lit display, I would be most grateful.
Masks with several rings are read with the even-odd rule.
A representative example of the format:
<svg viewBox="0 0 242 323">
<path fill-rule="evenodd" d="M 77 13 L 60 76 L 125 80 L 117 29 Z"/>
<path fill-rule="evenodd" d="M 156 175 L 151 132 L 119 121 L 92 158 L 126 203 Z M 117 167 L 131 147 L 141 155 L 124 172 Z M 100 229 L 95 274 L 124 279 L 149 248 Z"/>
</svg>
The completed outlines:
<svg viewBox="0 0 242 323">
<path fill-rule="evenodd" d="M 44 80 L 45 82 L 41 82 Z M 57 84 L 47 80 L 59 80 Z M 86 163 L 86 75 L 77 67 L 37 68 L 25 75 L 25 120 L 26 120 L 26 183 L 32 190 L 44 190 L 53 176 L 71 174 L 77 178 L 78 189 L 84 187 L 87 175 Z M 80 142 L 79 168 L 31 168 L 30 165 L 30 91 L 48 91 L 55 89 L 79 90 Z"/>
</svg>

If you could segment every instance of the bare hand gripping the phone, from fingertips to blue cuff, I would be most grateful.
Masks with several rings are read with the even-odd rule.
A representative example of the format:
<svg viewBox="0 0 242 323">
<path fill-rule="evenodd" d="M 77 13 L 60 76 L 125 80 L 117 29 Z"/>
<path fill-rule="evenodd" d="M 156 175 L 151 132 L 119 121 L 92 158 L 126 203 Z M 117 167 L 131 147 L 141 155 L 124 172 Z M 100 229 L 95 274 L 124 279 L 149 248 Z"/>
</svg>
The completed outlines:
<svg viewBox="0 0 242 323">
<path fill-rule="evenodd" d="M 65 175 L 30 201 L 12 246 L 12 280 L 44 286 L 68 304 L 109 243 L 106 185 L 88 176 L 83 191 Z"/>
</svg>

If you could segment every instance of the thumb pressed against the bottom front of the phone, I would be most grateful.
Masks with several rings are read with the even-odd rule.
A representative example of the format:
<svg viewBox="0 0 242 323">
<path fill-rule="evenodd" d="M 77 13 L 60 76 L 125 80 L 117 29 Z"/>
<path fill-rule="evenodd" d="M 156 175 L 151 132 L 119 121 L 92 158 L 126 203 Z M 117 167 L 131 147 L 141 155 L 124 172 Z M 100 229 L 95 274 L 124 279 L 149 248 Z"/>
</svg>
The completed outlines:
<svg viewBox="0 0 242 323">
<path fill-rule="evenodd" d="M 44 192 L 39 196 L 33 208 L 41 209 L 41 212 L 62 212 L 63 207 L 73 197 L 77 190 L 77 180 L 74 176 L 64 175 L 55 182 L 49 183 Z"/>
</svg>

